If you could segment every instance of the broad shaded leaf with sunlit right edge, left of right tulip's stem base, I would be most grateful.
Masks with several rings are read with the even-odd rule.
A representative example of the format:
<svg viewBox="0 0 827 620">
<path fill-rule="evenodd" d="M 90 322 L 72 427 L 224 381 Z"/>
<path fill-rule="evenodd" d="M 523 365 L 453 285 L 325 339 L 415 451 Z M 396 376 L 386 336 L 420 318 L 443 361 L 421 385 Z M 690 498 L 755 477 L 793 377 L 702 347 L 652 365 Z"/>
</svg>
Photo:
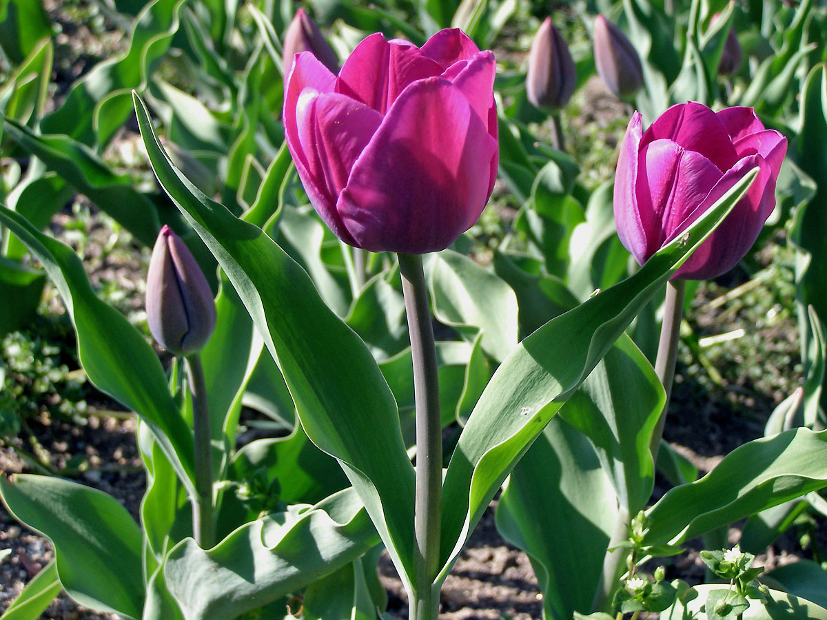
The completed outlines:
<svg viewBox="0 0 827 620">
<path fill-rule="evenodd" d="M 568 620 L 590 610 L 616 514 L 589 440 L 552 418 L 511 472 L 496 516 L 500 533 L 531 560 L 543 618 Z"/>
</svg>

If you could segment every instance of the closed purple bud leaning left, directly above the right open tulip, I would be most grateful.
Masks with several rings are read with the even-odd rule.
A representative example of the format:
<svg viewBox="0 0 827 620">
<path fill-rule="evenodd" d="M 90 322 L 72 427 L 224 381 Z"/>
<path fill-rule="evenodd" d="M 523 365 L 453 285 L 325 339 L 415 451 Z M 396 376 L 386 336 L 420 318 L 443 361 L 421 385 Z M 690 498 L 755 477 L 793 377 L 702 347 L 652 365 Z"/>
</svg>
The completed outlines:
<svg viewBox="0 0 827 620">
<path fill-rule="evenodd" d="M 595 18 L 595 66 L 600 78 L 619 98 L 631 97 L 643 86 L 643 67 L 632 43 L 602 15 Z"/>
</svg>

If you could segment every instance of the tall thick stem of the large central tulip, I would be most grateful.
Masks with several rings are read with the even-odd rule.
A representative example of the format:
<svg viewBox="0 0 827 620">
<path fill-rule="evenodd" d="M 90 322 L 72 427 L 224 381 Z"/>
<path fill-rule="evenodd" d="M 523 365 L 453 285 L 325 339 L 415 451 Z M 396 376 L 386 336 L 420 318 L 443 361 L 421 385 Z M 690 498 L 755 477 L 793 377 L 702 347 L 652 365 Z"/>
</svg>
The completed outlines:
<svg viewBox="0 0 827 620">
<path fill-rule="evenodd" d="M 414 360 L 416 405 L 416 495 L 414 499 L 413 592 L 410 620 L 436 620 L 439 589 L 433 580 L 439 569 L 442 516 L 442 419 L 439 411 L 437 349 L 421 255 L 399 254 L 402 293 L 408 314 L 411 357 Z"/>
</svg>

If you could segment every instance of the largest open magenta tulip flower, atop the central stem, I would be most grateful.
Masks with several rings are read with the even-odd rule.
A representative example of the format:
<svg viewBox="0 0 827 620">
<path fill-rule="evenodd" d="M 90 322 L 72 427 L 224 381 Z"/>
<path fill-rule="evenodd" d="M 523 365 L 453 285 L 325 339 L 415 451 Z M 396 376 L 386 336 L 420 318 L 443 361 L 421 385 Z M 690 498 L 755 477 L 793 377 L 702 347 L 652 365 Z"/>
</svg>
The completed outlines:
<svg viewBox="0 0 827 620">
<path fill-rule="evenodd" d="M 296 56 L 290 154 L 327 226 L 370 251 L 444 250 L 480 217 L 499 160 L 494 55 L 458 30 L 422 48 L 368 36 L 338 76 Z"/>
</svg>

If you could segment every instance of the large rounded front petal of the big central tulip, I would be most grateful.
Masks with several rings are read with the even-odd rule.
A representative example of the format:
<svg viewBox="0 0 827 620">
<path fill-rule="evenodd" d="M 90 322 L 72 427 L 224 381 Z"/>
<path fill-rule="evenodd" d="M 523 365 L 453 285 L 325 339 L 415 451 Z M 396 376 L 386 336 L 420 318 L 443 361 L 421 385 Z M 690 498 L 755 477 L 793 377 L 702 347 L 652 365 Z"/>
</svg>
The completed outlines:
<svg viewBox="0 0 827 620">
<path fill-rule="evenodd" d="M 441 78 L 413 83 L 353 166 L 339 216 L 366 250 L 444 250 L 485 207 L 496 150 L 459 88 Z"/>
</svg>

